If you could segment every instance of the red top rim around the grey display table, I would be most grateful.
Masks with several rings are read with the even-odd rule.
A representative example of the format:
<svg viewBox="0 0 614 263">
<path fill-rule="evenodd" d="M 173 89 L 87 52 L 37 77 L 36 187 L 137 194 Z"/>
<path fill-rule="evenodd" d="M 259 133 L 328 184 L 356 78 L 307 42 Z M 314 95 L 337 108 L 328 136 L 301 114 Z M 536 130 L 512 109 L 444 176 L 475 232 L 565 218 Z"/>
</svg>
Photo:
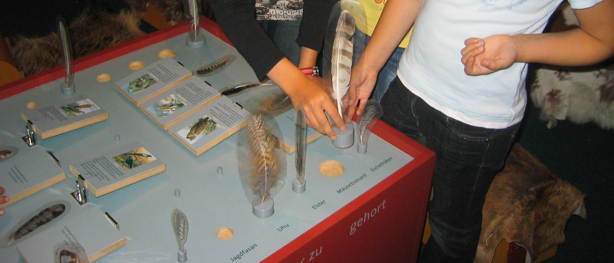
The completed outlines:
<svg viewBox="0 0 614 263">
<path fill-rule="evenodd" d="M 230 41 L 225 36 L 225 34 L 222 33 L 222 29 L 220 29 L 217 23 L 206 17 L 201 17 L 201 21 L 202 28 L 206 29 L 214 36 L 219 37 L 220 39 L 222 39 L 222 41 L 225 41 L 230 44 Z M 114 47 L 111 47 L 109 49 L 103 50 L 101 52 L 96 52 L 86 57 L 82 57 L 75 60 L 74 72 L 77 73 L 84 69 L 99 65 L 106 61 L 112 60 L 122 55 L 126 55 L 130 52 L 134 52 L 149 45 L 156 44 L 170 37 L 178 36 L 179 34 L 185 32 L 187 32 L 187 29 L 185 26 L 185 22 L 183 22 L 174 26 L 169 26 L 168 28 L 161 29 L 159 31 L 155 31 L 151 34 L 147 34 L 146 36 L 138 37 L 137 39 L 133 39 L 131 41 L 115 45 Z M 60 79 L 61 77 L 63 77 L 63 69 L 63 65 L 56 66 L 55 68 L 48 69 L 47 71 L 43 71 L 41 73 L 28 76 L 24 79 L 20 79 L 15 82 L 0 86 L 0 100 L 4 98 L 9 98 L 13 95 L 17 95 L 21 92 L 25 92 L 26 90 L 38 87 L 39 85 L 46 84 L 47 82 Z M 328 229 L 328 227 L 333 226 L 333 224 L 340 221 L 345 216 L 348 216 L 348 214 L 359 208 L 365 202 L 383 192 L 385 189 L 387 189 L 387 187 L 397 182 L 400 178 L 408 174 L 419 164 L 435 157 L 434 152 L 430 151 L 416 141 L 413 141 L 412 139 L 403 135 L 403 133 L 401 133 L 400 131 L 395 130 L 384 122 L 378 122 L 378 124 L 373 127 L 372 131 L 379 137 L 396 146 L 401 151 L 405 152 L 411 157 L 414 157 L 414 160 L 392 173 L 392 175 L 383 179 L 383 181 L 379 182 L 371 189 L 367 190 L 367 192 L 365 192 L 364 194 L 352 200 L 350 203 L 348 203 L 348 205 L 343 206 L 343 208 L 328 216 L 328 218 L 324 219 L 316 226 L 307 230 L 298 238 L 295 238 L 295 240 L 290 241 L 290 243 L 279 249 L 276 253 L 274 253 L 270 257 L 267 257 L 265 261 L 270 261 L 272 259 L 284 259 L 286 256 L 289 256 L 293 251 L 305 245 L 309 240 L 311 240 L 311 238 L 322 234 L 322 232 Z"/>
</svg>

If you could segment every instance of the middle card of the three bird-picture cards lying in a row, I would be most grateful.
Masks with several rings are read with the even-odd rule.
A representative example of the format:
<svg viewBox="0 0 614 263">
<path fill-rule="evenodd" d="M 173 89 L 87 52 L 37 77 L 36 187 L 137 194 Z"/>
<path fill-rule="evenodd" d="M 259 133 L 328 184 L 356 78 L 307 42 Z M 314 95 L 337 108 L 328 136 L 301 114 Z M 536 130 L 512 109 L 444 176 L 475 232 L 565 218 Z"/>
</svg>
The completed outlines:
<svg viewBox="0 0 614 263">
<path fill-rule="evenodd" d="M 164 130 L 203 108 L 221 95 L 199 77 L 192 76 L 139 106 Z"/>
</svg>

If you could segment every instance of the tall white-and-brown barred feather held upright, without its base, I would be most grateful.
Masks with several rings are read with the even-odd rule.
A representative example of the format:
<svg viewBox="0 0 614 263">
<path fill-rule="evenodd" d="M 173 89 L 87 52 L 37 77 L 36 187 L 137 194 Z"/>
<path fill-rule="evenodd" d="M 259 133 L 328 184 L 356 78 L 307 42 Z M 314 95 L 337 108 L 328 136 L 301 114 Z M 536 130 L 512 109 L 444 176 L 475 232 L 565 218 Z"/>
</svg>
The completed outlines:
<svg viewBox="0 0 614 263">
<path fill-rule="evenodd" d="M 343 96 L 348 93 L 349 78 L 352 71 L 352 54 L 354 44 L 352 35 L 356 30 L 354 19 L 348 10 L 343 10 L 335 29 L 335 40 L 331 55 L 331 74 L 333 81 L 333 99 L 337 101 L 337 110 L 343 117 Z"/>
</svg>

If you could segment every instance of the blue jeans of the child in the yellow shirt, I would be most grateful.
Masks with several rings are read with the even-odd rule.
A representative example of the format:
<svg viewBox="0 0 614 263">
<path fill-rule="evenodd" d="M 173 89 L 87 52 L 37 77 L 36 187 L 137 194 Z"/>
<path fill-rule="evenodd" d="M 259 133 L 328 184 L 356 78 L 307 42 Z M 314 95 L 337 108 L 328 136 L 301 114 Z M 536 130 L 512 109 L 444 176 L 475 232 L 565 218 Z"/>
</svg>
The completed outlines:
<svg viewBox="0 0 614 263">
<path fill-rule="evenodd" d="M 357 33 L 355 34 L 362 33 L 359 30 L 356 32 Z M 369 39 L 371 39 L 371 36 L 365 34 L 364 44 L 360 45 L 354 43 L 354 56 L 352 57 L 352 63 L 356 64 L 359 58 L 362 57 L 362 53 L 365 51 L 365 47 L 367 46 Z M 384 93 L 386 93 L 386 90 L 388 90 L 388 85 L 395 77 L 397 77 L 398 61 L 401 60 L 403 51 L 405 51 L 405 49 L 402 47 L 397 47 L 397 49 L 395 49 L 392 53 L 391 57 L 388 58 L 388 61 L 386 61 L 384 67 L 379 71 L 378 80 L 375 83 L 375 88 L 373 90 L 373 98 L 375 100 L 381 101 Z"/>
</svg>

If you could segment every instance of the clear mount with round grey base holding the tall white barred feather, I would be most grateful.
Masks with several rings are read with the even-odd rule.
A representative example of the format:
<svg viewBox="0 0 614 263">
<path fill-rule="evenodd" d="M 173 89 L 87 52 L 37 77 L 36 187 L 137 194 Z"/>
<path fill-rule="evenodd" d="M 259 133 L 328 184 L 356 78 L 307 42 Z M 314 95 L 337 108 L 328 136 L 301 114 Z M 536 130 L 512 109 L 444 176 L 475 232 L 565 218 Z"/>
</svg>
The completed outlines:
<svg viewBox="0 0 614 263">
<path fill-rule="evenodd" d="M 324 88 L 330 90 L 337 104 L 337 111 L 343 120 L 348 115 L 348 90 L 352 71 L 354 44 L 363 45 L 365 34 L 360 29 L 365 26 L 365 13 L 362 6 L 354 0 L 341 0 L 336 3 L 328 20 L 322 53 L 322 77 Z M 347 148 L 354 144 L 354 126 L 346 125 L 345 130 L 333 127 L 337 138 L 333 144 Z"/>
</svg>

